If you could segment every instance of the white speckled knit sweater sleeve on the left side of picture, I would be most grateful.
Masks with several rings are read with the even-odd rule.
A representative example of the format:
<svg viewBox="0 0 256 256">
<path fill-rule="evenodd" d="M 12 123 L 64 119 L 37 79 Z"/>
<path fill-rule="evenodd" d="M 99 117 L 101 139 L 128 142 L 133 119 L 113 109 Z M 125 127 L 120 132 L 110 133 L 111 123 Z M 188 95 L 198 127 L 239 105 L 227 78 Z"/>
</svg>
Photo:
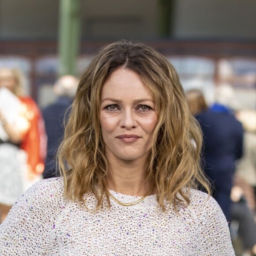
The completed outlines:
<svg viewBox="0 0 256 256">
<path fill-rule="evenodd" d="M 0 255 L 45 255 L 54 223 L 64 207 L 60 178 L 34 184 L 0 225 Z"/>
</svg>

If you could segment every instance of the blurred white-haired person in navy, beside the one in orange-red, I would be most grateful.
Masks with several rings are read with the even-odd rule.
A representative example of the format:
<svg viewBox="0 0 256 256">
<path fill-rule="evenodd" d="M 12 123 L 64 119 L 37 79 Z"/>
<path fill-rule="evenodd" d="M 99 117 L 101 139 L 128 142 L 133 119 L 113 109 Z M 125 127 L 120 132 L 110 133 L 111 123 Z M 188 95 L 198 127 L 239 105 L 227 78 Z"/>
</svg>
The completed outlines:
<svg viewBox="0 0 256 256">
<path fill-rule="evenodd" d="M 42 110 L 48 137 L 44 178 L 59 175 L 56 170 L 55 155 L 64 136 L 65 113 L 72 105 L 77 86 L 78 79 L 75 76 L 64 75 L 60 77 L 53 86 L 53 92 L 57 95 L 56 101 Z"/>
</svg>

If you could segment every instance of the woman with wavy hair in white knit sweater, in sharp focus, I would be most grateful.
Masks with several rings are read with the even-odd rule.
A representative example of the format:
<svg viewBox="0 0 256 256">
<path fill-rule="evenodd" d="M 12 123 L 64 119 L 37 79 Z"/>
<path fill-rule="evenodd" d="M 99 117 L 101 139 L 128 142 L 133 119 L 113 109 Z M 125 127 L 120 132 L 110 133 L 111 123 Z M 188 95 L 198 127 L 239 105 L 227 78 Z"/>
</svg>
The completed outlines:
<svg viewBox="0 0 256 256">
<path fill-rule="evenodd" d="M 104 47 L 79 82 L 59 150 L 63 177 L 13 207 L 1 252 L 233 255 L 218 204 L 193 188 L 208 188 L 200 147 L 166 58 L 143 44 Z"/>
</svg>

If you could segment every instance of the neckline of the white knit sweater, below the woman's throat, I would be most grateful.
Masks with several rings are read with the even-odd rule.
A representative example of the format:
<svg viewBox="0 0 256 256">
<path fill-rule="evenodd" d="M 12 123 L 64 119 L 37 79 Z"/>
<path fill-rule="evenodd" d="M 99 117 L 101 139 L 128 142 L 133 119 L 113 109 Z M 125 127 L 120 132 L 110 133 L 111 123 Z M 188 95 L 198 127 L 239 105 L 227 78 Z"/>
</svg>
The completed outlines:
<svg viewBox="0 0 256 256">
<path fill-rule="evenodd" d="M 133 203 L 137 200 L 139 200 L 142 196 L 130 196 L 130 195 L 124 195 L 119 192 L 113 191 L 109 189 L 109 192 L 120 202 L 122 203 Z M 120 207 L 156 207 L 158 205 L 156 195 L 146 196 L 141 202 L 136 203 L 133 206 L 121 206 L 117 202 L 115 202 L 111 197 L 109 198 L 111 203 L 120 206 Z"/>
</svg>

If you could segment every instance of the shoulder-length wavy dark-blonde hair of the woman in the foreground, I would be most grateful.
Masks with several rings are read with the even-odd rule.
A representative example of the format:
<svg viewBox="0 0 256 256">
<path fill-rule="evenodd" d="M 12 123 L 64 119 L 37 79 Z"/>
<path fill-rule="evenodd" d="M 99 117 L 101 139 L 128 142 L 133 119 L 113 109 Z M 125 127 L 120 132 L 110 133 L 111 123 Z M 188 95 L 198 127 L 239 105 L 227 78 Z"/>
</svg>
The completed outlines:
<svg viewBox="0 0 256 256">
<path fill-rule="evenodd" d="M 108 162 L 99 116 L 102 87 L 120 67 L 140 76 L 157 105 L 158 123 L 147 164 L 147 181 L 154 182 L 158 206 L 165 210 L 164 200 L 175 208 L 177 203 L 189 204 L 189 188 L 200 186 L 210 194 L 200 165 L 201 131 L 189 113 L 175 68 L 147 45 L 118 41 L 100 49 L 80 78 L 58 151 L 65 196 L 86 205 L 83 196 L 92 192 L 98 201 L 96 210 L 105 198 L 110 206 Z"/>
</svg>

